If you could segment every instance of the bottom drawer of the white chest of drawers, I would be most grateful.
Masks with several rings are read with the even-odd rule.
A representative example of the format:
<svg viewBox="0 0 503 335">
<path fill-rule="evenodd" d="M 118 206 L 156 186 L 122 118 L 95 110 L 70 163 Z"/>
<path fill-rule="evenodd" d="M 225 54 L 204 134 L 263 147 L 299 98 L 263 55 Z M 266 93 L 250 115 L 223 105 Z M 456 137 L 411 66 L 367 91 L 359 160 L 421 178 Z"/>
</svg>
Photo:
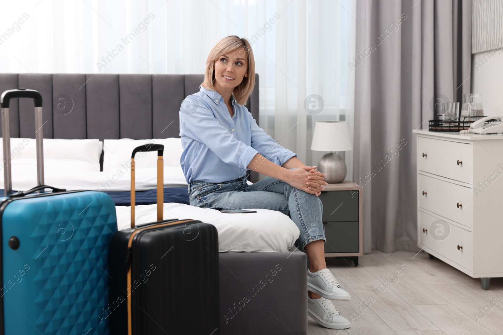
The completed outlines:
<svg viewBox="0 0 503 335">
<path fill-rule="evenodd" d="M 462 267 L 473 271 L 472 233 L 465 229 L 459 228 L 458 226 L 449 224 L 444 220 L 440 220 L 439 218 L 425 213 L 424 211 L 420 211 L 418 215 L 419 243 L 461 265 Z M 441 229 L 440 225 L 444 225 L 445 227 L 448 227 L 450 229 L 449 235 L 444 240 L 437 240 L 432 236 L 432 234 L 435 234 L 436 229 Z M 423 229 L 425 229 L 425 232 L 423 232 Z M 444 232 L 446 231 L 447 230 L 445 230 Z M 463 248 L 458 250 L 458 245 L 462 246 Z"/>
</svg>

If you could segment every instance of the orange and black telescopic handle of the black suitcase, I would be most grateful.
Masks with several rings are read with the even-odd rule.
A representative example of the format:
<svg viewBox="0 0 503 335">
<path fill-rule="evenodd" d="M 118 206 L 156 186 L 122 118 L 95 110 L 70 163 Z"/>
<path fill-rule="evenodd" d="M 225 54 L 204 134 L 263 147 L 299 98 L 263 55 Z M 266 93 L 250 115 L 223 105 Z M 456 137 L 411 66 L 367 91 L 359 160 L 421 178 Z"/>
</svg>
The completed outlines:
<svg viewBox="0 0 503 335">
<path fill-rule="evenodd" d="M 134 155 L 137 152 L 157 151 L 157 221 L 162 221 L 162 204 L 164 203 L 164 164 L 162 144 L 145 144 L 136 147 L 131 154 L 131 228 L 134 228 L 134 205 L 135 205 L 135 178 L 134 178 Z"/>
</svg>

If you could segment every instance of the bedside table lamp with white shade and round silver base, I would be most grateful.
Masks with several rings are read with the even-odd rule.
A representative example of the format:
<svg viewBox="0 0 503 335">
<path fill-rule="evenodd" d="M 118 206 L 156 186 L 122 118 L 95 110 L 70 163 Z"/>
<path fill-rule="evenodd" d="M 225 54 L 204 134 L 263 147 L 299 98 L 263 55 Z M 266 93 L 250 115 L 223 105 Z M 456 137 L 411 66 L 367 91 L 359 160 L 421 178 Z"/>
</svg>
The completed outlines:
<svg viewBox="0 0 503 335">
<path fill-rule="evenodd" d="M 317 121 L 314 125 L 311 150 L 330 151 L 319 161 L 317 170 L 326 174 L 327 183 L 342 183 L 346 178 L 346 162 L 336 151 L 353 150 L 346 121 Z"/>
</svg>

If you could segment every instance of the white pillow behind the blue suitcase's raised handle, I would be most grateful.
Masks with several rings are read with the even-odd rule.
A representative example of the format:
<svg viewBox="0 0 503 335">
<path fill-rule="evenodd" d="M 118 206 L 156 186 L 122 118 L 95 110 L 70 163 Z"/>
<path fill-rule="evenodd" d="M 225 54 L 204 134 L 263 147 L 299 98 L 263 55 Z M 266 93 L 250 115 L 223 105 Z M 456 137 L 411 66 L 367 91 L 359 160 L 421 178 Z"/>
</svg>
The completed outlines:
<svg viewBox="0 0 503 335">
<path fill-rule="evenodd" d="M 98 139 L 64 140 L 44 139 L 44 166 L 61 170 L 100 171 L 103 142 Z M 4 162 L 4 142 L 0 138 L 0 158 Z M 23 161 L 27 169 L 36 170 L 36 141 L 28 138 L 11 138 L 11 160 Z M 52 164 L 54 163 L 54 164 Z M 4 164 L 4 163 L 3 163 Z M 3 168 L 2 164 L 2 168 Z"/>
</svg>

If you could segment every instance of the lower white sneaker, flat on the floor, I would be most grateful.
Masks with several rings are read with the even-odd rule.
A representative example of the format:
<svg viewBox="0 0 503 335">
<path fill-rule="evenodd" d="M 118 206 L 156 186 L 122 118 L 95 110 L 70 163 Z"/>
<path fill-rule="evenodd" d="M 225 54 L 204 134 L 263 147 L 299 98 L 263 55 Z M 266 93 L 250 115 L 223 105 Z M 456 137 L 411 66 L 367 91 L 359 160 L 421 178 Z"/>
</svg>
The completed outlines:
<svg viewBox="0 0 503 335">
<path fill-rule="evenodd" d="M 346 329 L 351 326 L 351 323 L 341 315 L 336 306 L 323 297 L 318 299 L 307 297 L 307 315 L 323 327 L 330 329 Z"/>
</svg>

